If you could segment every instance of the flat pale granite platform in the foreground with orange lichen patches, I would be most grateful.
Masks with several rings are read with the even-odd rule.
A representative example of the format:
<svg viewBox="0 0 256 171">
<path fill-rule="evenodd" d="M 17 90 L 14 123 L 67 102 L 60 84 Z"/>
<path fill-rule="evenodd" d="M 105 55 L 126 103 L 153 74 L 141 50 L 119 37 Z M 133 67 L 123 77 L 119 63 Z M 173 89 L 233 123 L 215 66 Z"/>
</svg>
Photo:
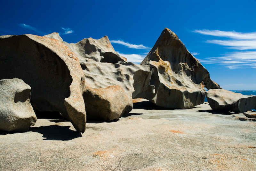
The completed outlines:
<svg viewBox="0 0 256 171">
<path fill-rule="evenodd" d="M 256 170 L 256 122 L 209 104 L 166 110 L 149 101 L 115 122 L 38 119 L 24 133 L 0 132 L 0 170 Z"/>
</svg>

